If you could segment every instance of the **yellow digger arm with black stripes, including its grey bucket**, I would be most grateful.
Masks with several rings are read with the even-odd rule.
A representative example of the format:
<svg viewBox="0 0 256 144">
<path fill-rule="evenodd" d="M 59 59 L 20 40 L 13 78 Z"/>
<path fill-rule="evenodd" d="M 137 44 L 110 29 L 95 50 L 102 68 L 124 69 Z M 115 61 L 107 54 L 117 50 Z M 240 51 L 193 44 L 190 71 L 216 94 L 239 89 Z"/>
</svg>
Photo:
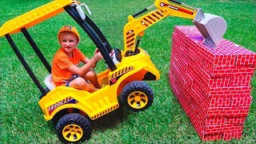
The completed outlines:
<svg viewBox="0 0 256 144">
<path fill-rule="evenodd" d="M 150 11 L 142 17 L 135 18 L 152 7 L 157 10 Z M 172 0 L 155 0 L 154 5 L 150 6 L 137 14 L 129 15 L 128 22 L 123 28 L 124 50 L 127 55 L 136 53 L 138 42 L 143 36 L 144 31 L 168 16 L 193 19 L 194 25 L 198 27 L 202 36 L 205 38 L 205 44 L 209 47 L 215 47 L 226 32 L 226 21 L 213 14 L 202 13 L 201 9 L 186 5 L 182 2 Z M 204 21 L 203 21 L 204 20 Z M 203 23 L 205 22 L 205 23 Z M 218 25 L 221 29 L 212 30 L 213 25 Z M 136 43 L 136 39 L 138 42 Z"/>
</svg>

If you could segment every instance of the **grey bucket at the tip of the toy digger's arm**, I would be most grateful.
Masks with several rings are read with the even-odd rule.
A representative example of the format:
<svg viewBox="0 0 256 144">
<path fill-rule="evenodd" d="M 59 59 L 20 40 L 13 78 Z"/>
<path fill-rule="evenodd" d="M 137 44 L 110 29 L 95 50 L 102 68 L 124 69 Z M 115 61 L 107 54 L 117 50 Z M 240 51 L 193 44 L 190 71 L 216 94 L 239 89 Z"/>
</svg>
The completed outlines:
<svg viewBox="0 0 256 144">
<path fill-rule="evenodd" d="M 218 43 L 226 33 L 226 21 L 224 18 L 214 14 L 203 14 L 201 9 L 195 16 L 194 26 L 198 28 L 205 38 L 204 43 L 210 48 L 218 46 Z"/>
</svg>

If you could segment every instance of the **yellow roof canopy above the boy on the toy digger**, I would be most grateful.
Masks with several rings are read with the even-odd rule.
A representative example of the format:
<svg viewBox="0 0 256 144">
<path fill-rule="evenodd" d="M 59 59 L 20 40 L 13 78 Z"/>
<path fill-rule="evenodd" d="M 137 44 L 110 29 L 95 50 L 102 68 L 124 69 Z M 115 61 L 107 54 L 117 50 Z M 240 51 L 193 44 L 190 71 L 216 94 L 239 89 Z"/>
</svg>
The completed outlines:
<svg viewBox="0 0 256 144">
<path fill-rule="evenodd" d="M 18 33 L 23 27 L 28 29 L 31 26 L 45 21 L 47 18 L 51 18 L 64 11 L 63 7 L 73 2 L 74 0 L 55 0 L 54 2 L 49 2 L 44 6 L 31 10 L 26 14 L 22 14 L 17 18 L 11 19 L 0 28 L 0 37 L 6 34 Z"/>
</svg>

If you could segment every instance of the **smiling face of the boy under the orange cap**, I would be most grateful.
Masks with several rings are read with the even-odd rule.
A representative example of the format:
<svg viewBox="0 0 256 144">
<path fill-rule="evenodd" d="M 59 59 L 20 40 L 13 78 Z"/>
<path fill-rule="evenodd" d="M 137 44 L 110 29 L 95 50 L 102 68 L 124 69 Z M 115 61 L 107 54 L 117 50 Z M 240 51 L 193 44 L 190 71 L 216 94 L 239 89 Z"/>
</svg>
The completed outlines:
<svg viewBox="0 0 256 144">
<path fill-rule="evenodd" d="M 69 54 L 78 46 L 78 37 L 71 32 L 62 32 L 59 35 L 59 42 L 65 52 Z"/>
</svg>

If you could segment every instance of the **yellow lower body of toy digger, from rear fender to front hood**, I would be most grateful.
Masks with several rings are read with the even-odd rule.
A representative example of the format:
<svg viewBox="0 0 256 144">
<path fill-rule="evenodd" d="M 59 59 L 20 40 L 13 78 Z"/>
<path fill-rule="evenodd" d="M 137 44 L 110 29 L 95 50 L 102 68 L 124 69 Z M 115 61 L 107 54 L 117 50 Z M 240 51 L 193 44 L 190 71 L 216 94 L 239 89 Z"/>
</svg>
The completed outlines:
<svg viewBox="0 0 256 144">
<path fill-rule="evenodd" d="M 66 86 L 58 86 L 51 90 L 38 102 L 46 121 L 53 118 L 58 111 L 68 108 L 82 110 L 94 120 L 117 109 L 120 94 L 118 90 L 122 90 L 128 82 L 142 80 L 145 71 L 150 71 L 158 80 L 160 74 L 150 60 L 150 55 L 141 48 L 139 50 L 141 50 L 139 54 L 124 57 L 122 62 L 118 63 L 117 70 L 105 70 L 98 74 L 98 82 L 103 87 L 94 93 L 90 94 L 85 90 L 76 90 Z M 138 76 L 133 77 L 133 74 L 138 74 Z"/>
</svg>

